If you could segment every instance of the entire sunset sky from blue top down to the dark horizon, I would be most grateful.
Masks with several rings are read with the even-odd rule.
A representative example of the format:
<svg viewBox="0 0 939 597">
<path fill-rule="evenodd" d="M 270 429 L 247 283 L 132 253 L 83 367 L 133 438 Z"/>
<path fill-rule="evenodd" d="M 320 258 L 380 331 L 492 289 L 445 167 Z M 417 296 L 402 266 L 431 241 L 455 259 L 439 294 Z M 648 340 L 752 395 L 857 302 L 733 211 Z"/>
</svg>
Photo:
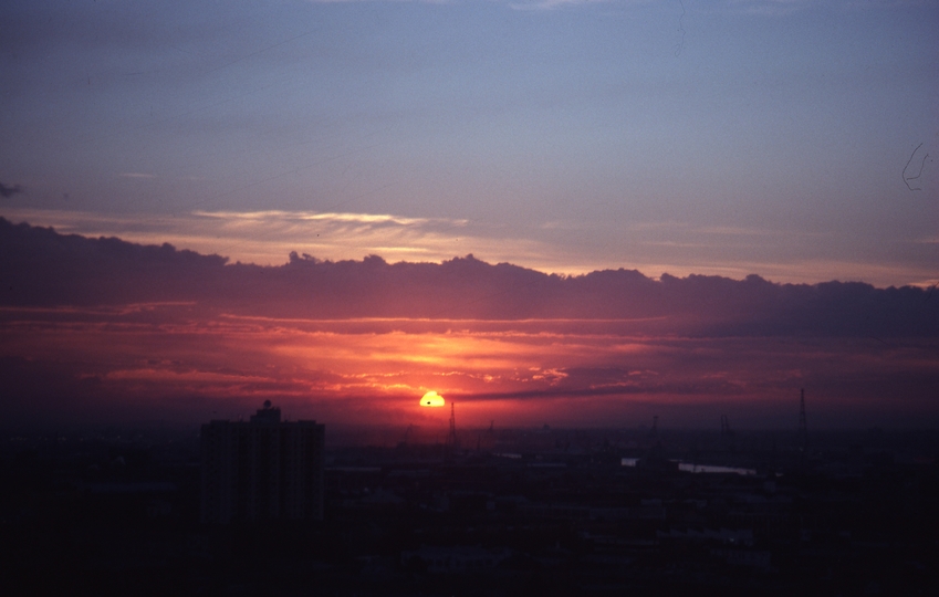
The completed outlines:
<svg viewBox="0 0 939 597">
<path fill-rule="evenodd" d="M 11 420 L 939 422 L 936 2 L 0 18 Z"/>
</svg>

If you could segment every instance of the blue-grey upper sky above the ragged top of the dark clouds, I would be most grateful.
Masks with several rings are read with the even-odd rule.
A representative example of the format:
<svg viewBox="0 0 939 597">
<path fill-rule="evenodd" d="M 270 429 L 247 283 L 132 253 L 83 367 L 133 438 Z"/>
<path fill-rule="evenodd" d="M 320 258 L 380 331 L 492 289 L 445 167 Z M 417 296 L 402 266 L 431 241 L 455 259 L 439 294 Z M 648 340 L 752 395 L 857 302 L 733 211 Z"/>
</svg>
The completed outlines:
<svg viewBox="0 0 939 597">
<path fill-rule="evenodd" d="M 939 280 L 935 2 L 0 10 L 11 221 L 270 265 Z"/>
</svg>

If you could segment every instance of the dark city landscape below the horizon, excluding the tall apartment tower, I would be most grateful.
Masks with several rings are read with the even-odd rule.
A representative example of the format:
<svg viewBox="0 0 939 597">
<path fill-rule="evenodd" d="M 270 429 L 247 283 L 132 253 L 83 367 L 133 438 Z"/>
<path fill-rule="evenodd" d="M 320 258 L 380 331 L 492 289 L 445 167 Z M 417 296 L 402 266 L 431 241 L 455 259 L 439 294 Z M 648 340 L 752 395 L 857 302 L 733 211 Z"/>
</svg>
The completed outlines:
<svg viewBox="0 0 939 597">
<path fill-rule="evenodd" d="M 321 523 L 199 522 L 198 429 L 10 431 L 4 594 L 936 595 L 939 436 L 326 428 Z M 700 471 L 708 465 L 708 472 Z M 697 468 L 696 468 L 697 467 Z"/>
</svg>

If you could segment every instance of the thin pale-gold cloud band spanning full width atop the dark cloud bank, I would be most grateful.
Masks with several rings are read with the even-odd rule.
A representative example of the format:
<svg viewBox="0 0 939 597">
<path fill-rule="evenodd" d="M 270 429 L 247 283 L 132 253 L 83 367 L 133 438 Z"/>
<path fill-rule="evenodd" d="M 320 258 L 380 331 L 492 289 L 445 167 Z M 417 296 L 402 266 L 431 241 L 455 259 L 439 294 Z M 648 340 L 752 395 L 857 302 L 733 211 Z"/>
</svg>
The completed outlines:
<svg viewBox="0 0 939 597">
<path fill-rule="evenodd" d="M 650 276 L 710 274 L 741 280 L 757 273 L 778 282 L 860 280 L 883 286 L 928 286 L 936 276 L 928 258 L 935 239 L 916 243 L 927 255 L 918 266 L 886 261 L 883 248 L 878 248 L 876 259 L 807 256 L 806 245 L 830 242 L 833 235 L 770 227 L 617 222 L 626 233 L 619 235 L 617 244 L 606 247 L 598 260 L 591 243 L 595 228 L 606 226 L 603 222 L 574 226 L 533 218 L 528 226 L 505 227 L 460 218 L 288 210 L 104 214 L 7 208 L 2 216 L 66 233 L 119 237 L 146 244 L 168 242 L 179 249 L 260 265 L 283 264 L 292 252 L 332 261 L 377 254 L 394 261 L 438 263 L 473 254 L 488 262 L 561 274 L 625 268 Z"/>
</svg>

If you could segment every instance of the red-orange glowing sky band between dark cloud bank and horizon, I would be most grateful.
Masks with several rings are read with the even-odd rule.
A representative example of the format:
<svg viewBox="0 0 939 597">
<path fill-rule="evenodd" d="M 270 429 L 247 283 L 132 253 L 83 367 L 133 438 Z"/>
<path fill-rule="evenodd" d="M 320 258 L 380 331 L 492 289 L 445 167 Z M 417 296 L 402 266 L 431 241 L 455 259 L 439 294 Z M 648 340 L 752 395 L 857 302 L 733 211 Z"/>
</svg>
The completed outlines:
<svg viewBox="0 0 939 597">
<path fill-rule="evenodd" d="M 806 380 L 828 383 L 833 406 L 874 408 L 875 399 L 851 395 L 857 390 L 843 380 L 858 370 L 886 379 L 939 368 L 924 358 L 928 342 L 907 342 L 904 353 L 884 359 L 849 339 L 638 335 L 617 322 L 194 320 L 186 308 L 11 312 L 0 322 L 0 354 L 19 355 L 22 367 L 64 364 L 40 375 L 40 386 L 60 375 L 101 404 L 171 407 L 197 420 L 206 415 L 192 405 L 237 418 L 271 399 L 294 418 L 431 427 L 446 423 L 432 408 L 445 405 L 444 396 L 459 402 L 465 427 L 493 419 L 632 426 L 645 422 L 649 409 L 669 407 L 697 412 L 686 415 L 693 423 L 784 404 Z M 430 408 L 416 411 L 415 396 Z"/>
</svg>

